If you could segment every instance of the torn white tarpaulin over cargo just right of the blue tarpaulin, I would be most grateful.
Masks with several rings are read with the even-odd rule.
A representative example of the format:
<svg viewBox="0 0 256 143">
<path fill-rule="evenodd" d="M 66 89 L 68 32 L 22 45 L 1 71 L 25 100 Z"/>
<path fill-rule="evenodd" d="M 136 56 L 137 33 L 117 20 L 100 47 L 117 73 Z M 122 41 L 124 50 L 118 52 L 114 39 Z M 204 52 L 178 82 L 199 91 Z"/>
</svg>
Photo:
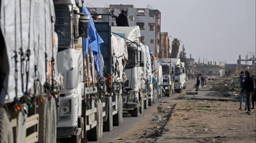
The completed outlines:
<svg viewBox="0 0 256 143">
<path fill-rule="evenodd" d="M 115 80 L 123 81 L 123 72 L 126 61 L 128 60 L 127 46 L 123 38 L 111 35 L 111 49 L 114 64 L 112 75 Z M 124 65 L 123 65 L 124 61 Z"/>
</svg>

